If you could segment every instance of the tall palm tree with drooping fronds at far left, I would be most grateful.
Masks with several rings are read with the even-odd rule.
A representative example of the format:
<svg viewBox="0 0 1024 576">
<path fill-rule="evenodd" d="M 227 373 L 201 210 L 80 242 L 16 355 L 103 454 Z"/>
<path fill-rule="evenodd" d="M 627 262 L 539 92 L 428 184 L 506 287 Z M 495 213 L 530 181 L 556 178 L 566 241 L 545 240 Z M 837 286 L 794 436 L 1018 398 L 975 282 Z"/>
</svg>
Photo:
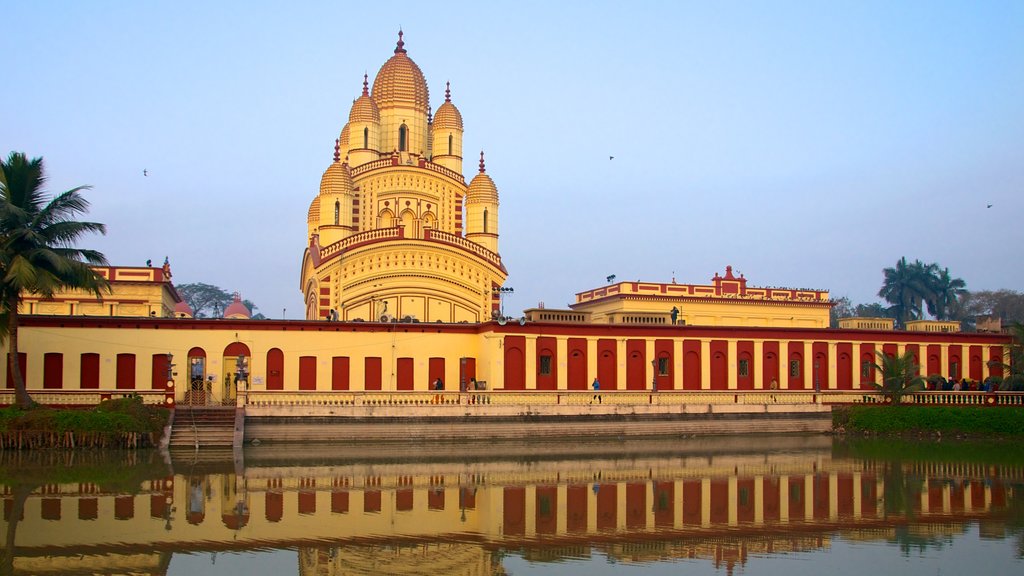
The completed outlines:
<svg viewBox="0 0 1024 576">
<path fill-rule="evenodd" d="M 17 362 L 18 307 L 23 294 L 52 296 L 62 289 L 84 289 L 97 296 L 110 290 L 105 280 L 90 264 L 104 265 L 106 258 L 95 250 L 76 248 L 83 235 L 106 229 L 97 222 L 75 219 L 88 211 L 81 196 L 88 187 L 78 187 L 48 199 L 43 192 L 43 159 L 28 160 L 12 152 L 0 159 L 0 312 L 6 316 L 10 339 L 11 378 L 17 405 L 32 406 L 20 364 Z"/>
</svg>

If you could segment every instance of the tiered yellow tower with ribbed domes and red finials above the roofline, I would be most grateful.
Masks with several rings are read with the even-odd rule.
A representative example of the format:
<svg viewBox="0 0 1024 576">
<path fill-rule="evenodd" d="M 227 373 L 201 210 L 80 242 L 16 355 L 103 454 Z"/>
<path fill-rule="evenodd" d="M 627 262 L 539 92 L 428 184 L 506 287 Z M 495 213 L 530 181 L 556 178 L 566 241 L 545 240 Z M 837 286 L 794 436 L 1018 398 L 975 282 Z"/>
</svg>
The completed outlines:
<svg viewBox="0 0 1024 576">
<path fill-rule="evenodd" d="M 309 204 L 307 320 L 477 323 L 497 310 L 498 188 L 482 152 L 466 183 L 451 87 L 434 115 L 429 96 L 399 32 L 372 87 L 364 76 Z"/>
</svg>

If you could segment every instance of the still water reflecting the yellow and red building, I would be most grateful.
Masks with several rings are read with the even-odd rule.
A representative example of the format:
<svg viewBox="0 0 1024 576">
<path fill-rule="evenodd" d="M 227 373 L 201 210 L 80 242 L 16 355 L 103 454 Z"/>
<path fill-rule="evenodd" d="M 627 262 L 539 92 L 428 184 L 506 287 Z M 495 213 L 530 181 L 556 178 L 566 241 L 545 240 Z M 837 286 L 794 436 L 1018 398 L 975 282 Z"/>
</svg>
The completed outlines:
<svg viewBox="0 0 1024 576">
<path fill-rule="evenodd" d="M 0 574 L 1024 573 L 1011 444 L 264 445 L 0 465 Z"/>
</svg>

